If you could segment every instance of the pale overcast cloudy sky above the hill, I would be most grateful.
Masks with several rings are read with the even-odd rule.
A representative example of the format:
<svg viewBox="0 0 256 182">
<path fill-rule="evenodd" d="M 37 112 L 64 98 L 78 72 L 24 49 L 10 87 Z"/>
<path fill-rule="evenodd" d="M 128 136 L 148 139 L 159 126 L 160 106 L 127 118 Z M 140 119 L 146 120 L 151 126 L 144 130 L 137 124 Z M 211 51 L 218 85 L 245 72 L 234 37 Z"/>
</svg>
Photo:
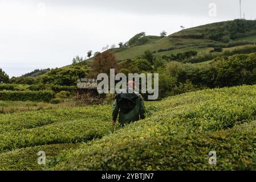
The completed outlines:
<svg viewBox="0 0 256 182">
<path fill-rule="evenodd" d="M 255 6 L 255 0 L 242 0 L 246 19 L 256 18 Z M 126 42 L 141 31 L 172 34 L 181 25 L 239 16 L 239 0 L 0 0 L 0 68 L 21 76 L 71 64 L 76 55 Z"/>
</svg>

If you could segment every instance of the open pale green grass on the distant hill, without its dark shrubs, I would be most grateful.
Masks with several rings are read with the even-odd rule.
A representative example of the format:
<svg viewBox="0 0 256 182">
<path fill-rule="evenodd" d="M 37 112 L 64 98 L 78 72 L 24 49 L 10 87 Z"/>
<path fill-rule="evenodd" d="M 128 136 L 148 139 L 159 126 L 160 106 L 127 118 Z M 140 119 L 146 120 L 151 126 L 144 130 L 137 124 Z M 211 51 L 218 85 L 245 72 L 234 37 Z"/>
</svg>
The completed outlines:
<svg viewBox="0 0 256 182">
<path fill-rule="evenodd" d="M 238 20 L 236 20 L 238 21 Z M 253 23 L 252 20 L 241 20 L 243 23 Z M 147 42 L 140 46 L 130 46 L 128 48 L 113 48 L 111 51 L 115 53 L 117 61 L 123 61 L 126 59 L 135 59 L 137 56 L 141 56 L 145 51 L 149 50 L 155 56 L 170 56 L 172 53 L 176 55 L 177 53 L 182 53 L 186 51 L 197 51 L 198 53 L 209 52 L 213 48 L 209 46 L 223 44 L 224 46 L 229 46 L 229 44 L 225 44 L 223 42 L 216 42 L 214 40 L 210 40 L 209 36 L 216 30 L 224 31 L 229 27 L 234 21 L 226 21 L 226 22 L 217 22 L 212 24 L 205 24 L 198 27 L 188 28 L 182 31 L 178 31 L 168 37 L 161 38 L 160 36 L 145 36 L 147 38 Z M 226 32 L 227 33 L 227 32 Z M 190 35 L 202 35 L 204 34 L 204 38 L 202 39 L 192 39 L 186 38 L 186 36 Z M 182 37 L 183 36 L 183 37 Z M 184 38 L 185 37 L 185 38 Z M 235 42 L 244 42 L 243 44 L 251 44 L 256 43 L 256 36 L 248 36 L 241 39 L 230 40 L 230 43 Z M 159 49 L 166 48 L 174 48 L 171 51 L 165 52 L 157 52 Z M 239 48 L 239 46 L 234 46 L 231 48 L 224 48 L 226 50 Z M 95 57 L 91 57 L 86 60 L 87 65 L 91 65 L 94 61 Z M 208 60 L 207 60 L 208 61 Z"/>
</svg>

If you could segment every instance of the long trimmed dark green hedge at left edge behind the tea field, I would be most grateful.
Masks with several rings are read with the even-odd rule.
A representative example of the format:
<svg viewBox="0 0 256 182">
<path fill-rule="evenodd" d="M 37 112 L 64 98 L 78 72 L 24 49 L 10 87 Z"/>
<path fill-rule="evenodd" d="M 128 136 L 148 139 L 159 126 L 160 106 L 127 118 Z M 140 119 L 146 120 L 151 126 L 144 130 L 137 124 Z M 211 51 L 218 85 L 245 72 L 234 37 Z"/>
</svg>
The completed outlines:
<svg viewBox="0 0 256 182">
<path fill-rule="evenodd" d="M 0 91 L 0 100 L 3 101 L 45 101 L 49 102 L 53 97 L 50 91 Z"/>
</svg>

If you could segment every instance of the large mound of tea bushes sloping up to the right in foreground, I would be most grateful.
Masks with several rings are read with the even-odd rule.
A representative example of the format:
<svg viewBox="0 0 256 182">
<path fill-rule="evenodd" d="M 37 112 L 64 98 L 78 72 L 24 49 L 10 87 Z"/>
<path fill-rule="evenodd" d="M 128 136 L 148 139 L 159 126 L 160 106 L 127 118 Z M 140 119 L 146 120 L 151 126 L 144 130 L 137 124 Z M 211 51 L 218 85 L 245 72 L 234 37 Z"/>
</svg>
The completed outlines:
<svg viewBox="0 0 256 182">
<path fill-rule="evenodd" d="M 50 169 L 253 170 L 255 90 L 204 90 L 154 102 L 143 121 L 58 155 Z M 217 165 L 209 165 L 210 151 Z"/>
</svg>

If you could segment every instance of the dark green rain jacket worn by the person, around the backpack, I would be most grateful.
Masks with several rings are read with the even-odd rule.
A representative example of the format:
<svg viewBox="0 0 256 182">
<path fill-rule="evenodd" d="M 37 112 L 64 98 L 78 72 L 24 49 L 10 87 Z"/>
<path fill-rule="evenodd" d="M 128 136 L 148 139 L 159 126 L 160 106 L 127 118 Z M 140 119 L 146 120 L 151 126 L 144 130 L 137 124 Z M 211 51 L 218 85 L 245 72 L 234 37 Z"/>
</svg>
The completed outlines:
<svg viewBox="0 0 256 182">
<path fill-rule="evenodd" d="M 128 113 L 123 113 L 119 106 L 120 98 L 133 100 L 135 103 L 135 107 Z M 144 106 L 144 100 L 141 94 L 137 92 L 128 93 L 128 89 L 127 89 L 127 93 L 117 94 L 116 99 L 113 103 L 113 108 L 112 108 L 112 121 L 116 121 L 118 114 L 119 114 L 119 124 L 121 126 L 124 126 L 125 124 L 131 123 L 133 121 L 138 121 L 139 119 L 144 119 L 145 106 Z"/>
</svg>

